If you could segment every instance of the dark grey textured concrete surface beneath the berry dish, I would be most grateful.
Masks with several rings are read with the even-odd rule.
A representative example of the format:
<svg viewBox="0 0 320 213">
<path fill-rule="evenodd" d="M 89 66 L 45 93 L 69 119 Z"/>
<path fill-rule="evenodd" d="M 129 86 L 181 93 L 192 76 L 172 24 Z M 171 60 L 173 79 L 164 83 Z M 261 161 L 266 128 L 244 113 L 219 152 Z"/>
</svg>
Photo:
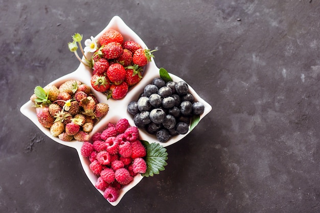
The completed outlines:
<svg viewBox="0 0 320 213">
<path fill-rule="evenodd" d="M 0 0 L 0 212 L 319 212 L 319 1 Z M 111 206 L 19 112 L 119 15 L 212 106 L 166 170 Z"/>
</svg>

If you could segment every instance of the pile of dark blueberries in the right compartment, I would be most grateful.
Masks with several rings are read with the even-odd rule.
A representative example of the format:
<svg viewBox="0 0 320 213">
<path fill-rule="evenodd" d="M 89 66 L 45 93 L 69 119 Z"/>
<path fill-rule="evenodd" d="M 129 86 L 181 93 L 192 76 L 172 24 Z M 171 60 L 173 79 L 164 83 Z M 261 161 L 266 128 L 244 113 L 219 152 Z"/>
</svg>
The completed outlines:
<svg viewBox="0 0 320 213">
<path fill-rule="evenodd" d="M 145 128 L 164 143 L 170 136 L 186 134 L 192 116 L 203 113 L 204 105 L 194 100 L 186 82 L 154 78 L 127 110 L 134 115 L 135 126 Z"/>
</svg>

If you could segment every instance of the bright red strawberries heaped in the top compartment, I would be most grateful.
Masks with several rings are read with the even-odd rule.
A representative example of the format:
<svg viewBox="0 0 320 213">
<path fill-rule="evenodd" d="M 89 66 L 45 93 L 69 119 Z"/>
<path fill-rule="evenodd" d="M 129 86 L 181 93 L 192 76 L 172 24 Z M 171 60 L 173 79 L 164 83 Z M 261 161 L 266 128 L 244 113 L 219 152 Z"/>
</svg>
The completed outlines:
<svg viewBox="0 0 320 213">
<path fill-rule="evenodd" d="M 129 87 L 140 82 L 143 67 L 153 57 L 152 51 L 135 41 L 124 41 L 122 34 L 113 29 L 105 31 L 97 45 L 100 48 L 92 57 L 91 85 L 108 98 L 122 99 Z"/>
</svg>

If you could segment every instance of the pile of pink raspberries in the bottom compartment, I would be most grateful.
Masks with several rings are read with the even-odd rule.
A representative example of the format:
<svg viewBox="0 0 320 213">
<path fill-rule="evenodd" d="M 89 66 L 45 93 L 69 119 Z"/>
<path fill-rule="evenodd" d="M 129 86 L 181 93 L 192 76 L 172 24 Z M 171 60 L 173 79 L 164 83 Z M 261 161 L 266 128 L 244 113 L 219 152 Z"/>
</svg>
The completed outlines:
<svg viewBox="0 0 320 213">
<path fill-rule="evenodd" d="M 96 188 L 104 192 L 109 202 L 115 202 L 122 186 L 129 184 L 136 174 L 147 170 L 146 149 L 139 140 L 139 130 L 120 119 L 85 141 L 81 155 L 90 160 L 90 170 L 98 177 Z"/>
</svg>

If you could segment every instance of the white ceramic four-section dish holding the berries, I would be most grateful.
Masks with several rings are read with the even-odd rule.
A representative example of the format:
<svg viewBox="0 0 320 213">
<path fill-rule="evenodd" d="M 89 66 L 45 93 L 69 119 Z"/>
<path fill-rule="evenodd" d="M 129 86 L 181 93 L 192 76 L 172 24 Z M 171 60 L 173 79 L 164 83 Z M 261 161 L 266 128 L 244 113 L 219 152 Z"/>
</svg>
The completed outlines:
<svg viewBox="0 0 320 213">
<path fill-rule="evenodd" d="M 99 39 L 101 37 L 101 35 L 107 29 L 118 30 L 123 35 L 125 40 L 134 40 L 134 41 L 138 42 L 143 48 L 147 48 L 147 45 L 143 42 L 143 40 L 138 35 L 136 35 L 124 23 L 124 21 L 119 16 L 113 17 L 110 20 L 107 27 L 103 31 L 101 31 L 95 38 Z M 179 78 L 173 74 L 169 74 L 169 75 L 171 76 L 172 80 L 175 82 L 182 81 L 181 78 Z M 92 76 L 92 71 L 88 67 L 86 67 L 82 63 L 80 63 L 79 67 L 74 72 L 72 72 L 68 75 L 62 76 L 59 79 L 51 82 L 50 84 L 54 84 L 56 86 L 59 86 L 67 80 L 76 79 L 76 80 L 81 81 L 84 84 L 91 86 L 90 85 L 91 76 Z M 106 125 L 109 122 L 116 123 L 118 120 L 120 120 L 122 118 L 128 119 L 130 125 L 134 126 L 132 115 L 127 112 L 127 105 L 131 101 L 137 100 L 139 97 L 139 94 L 143 91 L 144 87 L 147 84 L 151 83 L 152 79 L 154 79 L 155 77 L 159 77 L 159 68 L 155 65 L 155 62 L 152 59 L 151 62 L 149 62 L 145 67 L 144 76 L 143 76 L 141 82 L 139 82 L 134 87 L 130 88 L 130 90 L 128 91 L 125 98 L 123 98 L 121 100 L 113 100 L 113 99 L 107 100 L 106 96 L 103 93 L 97 92 L 94 89 L 92 89 L 92 92 L 95 94 L 95 96 L 97 97 L 99 102 L 107 103 L 109 105 L 109 111 L 95 125 L 93 131 L 90 132 L 90 134 L 89 134 L 90 137 L 92 135 L 94 135 L 96 132 L 101 132 L 103 129 L 105 129 Z M 193 94 L 195 100 L 204 104 L 204 112 L 200 115 L 200 120 L 201 120 L 201 119 L 203 119 L 203 117 L 205 115 L 207 115 L 212 110 L 212 107 L 210 106 L 210 104 L 208 104 L 207 102 L 205 102 L 202 98 L 200 98 L 198 96 L 198 94 L 194 91 L 194 89 L 190 86 L 190 84 L 188 84 L 188 85 L 189 85 L 189 91 L 191 94 Z M 35 85 L 35 86 L 37 86 L 37 85 Z M 45 86 L 45 85 L 43 85 L 43 86 Z M 22 114 L 27 116 L 45 135 L 47 135 L 48 137 L 50 137 L 51 139 L 53 139 L 54 141 L 56 141 L 59 144 L 75 148 L 78 152 L 80 162 L 82 164 L 82 167 L 83 167 L 85 174 L 87 175 L 89 180 L 92 182 L 92 184 L 95 185 L 95 183 L 97 181 L 97 176 L 95 176 L 94 173 L 92 171 L 90 171 L 89 160 L 87 158 L 82 157 L 81 152 L 80 152 L 82 142 L 76 141 L 76 140 L 62 141 L 58 137 L 53 137 L 50 134 L 49 129 L 44 128 L 39 124 L 39 122 L 37 120 L 35 108 L 32 107 L 31 101 L 28 101 L 26 104 L 21 106 L 20 111 Z M 167 147 L 167 146 L 172 145 L 172 144 L 176 143 L 177 141 L 181 140 L 185 136 L 187 136 L 190 133 L 190 130 L 188 131 L 187 134 L 177 135 L 177 136 L 171 137 L 166 143 L 161 143 L 161 142 L 157 141 L 157 139 L 154 135 L 148 134 L 145 130 L 140 129 L 139 132 L 140 132 L 140 135 L 139 135 L 140 139 L 147 140 L 147 141 L 149 141 L 149 143 L 159 143 L 163 147 Z M 110 202 L 110 204 L 113 206 L 116 206 L 120 202 L 121 198 L 125 195 L 125 193 L 127 193 L 132 187 L 134 187 L 136 184 L 138 184 L 142 180 L 142 178 L 143 178 L 143 176 L 136 175 L 132 182 L 130 182 L 128 185 L 124 186 L 121 189 L 120 195 L 119 195 L 119 198 L 117 199 L 117 201 Z M 101 190 L 98 190 L 98 191 L 103 195 L 103 192 Z"/>
</svg>

